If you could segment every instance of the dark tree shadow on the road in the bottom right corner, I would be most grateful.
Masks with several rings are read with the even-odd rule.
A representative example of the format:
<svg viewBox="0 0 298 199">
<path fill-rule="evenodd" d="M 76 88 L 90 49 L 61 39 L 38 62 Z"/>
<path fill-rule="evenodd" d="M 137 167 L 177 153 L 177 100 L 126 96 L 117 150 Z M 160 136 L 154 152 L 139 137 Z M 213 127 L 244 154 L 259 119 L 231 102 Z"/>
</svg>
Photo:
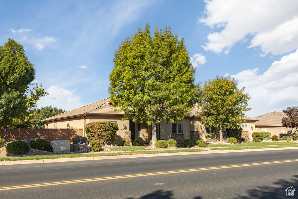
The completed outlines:
<svg viewBox="0 0 298 199">
<path fill-rule="evenodd" d="M 295 171 L 295 169 L 294 169 Z M 298 175 L 293 175 L 294 178 L 290 180 L 283 180 L 280 179 L 274 184 L 279 185 L 278 187 L 273 186 L 257 186 L 255 189 L 247 190 L 248 196 L 241 196 L 238 195 L 236 198 L 242 199 L 251 199 L 251 198 L 258 198 L 258 199 L 267 199 L 267 198 L 294 198 L 294 197 L 287 197 L 286 191 L 290 186 L 293 186 L 296 191 L 294 191 L 295 198 L 298 198 Z"/>
</svg>

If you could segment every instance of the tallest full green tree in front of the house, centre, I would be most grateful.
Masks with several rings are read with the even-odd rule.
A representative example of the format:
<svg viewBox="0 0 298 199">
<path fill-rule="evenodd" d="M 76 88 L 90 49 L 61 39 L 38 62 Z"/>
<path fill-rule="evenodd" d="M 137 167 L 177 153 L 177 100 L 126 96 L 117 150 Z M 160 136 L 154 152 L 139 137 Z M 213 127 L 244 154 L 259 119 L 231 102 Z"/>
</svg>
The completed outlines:
<svg viewBox="0 0 298 199">
<path fill-rule="evenodd" d="M 152 125 L 152 144 L 156 124 L 180 121 L 196 99 L 195 68 L 190 63 L 183 38 L 167 27 L 157 27 L 153 38 L 150 27 L 126 38 L 114 54 L 110 74 L 111 104 L 124 111 L 124 118 Z"/>
</svg>

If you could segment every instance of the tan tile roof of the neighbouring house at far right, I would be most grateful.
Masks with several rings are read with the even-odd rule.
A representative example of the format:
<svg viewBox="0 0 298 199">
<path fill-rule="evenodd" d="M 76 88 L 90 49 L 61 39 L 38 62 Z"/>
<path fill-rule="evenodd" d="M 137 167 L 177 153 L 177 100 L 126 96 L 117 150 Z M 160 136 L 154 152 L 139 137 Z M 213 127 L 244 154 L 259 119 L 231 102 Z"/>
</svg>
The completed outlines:
<svg viewBox="0 0 298 199">
<path fill-rule="evenodd" d="M 260 115 L 255 117 L 259 121 L 256 121 L 254 126 L 255 127 L 274 127 L 279 126 L 282 127 L 283 124 L 281 123 L 281 119 L 286 117 L 283 112 L 273 111 L 264 115 Z"/>
</svg>

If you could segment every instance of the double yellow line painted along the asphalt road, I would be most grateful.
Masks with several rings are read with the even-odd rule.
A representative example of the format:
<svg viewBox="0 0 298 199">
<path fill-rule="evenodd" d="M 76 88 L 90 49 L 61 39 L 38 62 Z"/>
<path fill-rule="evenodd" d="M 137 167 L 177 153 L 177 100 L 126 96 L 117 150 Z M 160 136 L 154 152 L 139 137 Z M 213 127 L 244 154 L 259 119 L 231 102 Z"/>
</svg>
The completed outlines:
<svg viewBox="0 0 298 199">
<path fill-rule="evenodd" d="M 285 160 L 285 161 L 251 163 L 251 164 L 239 164 L 239 165 L 230 165 L 230 166 L 216 166 L 216 167 L 198 168 L 198 169 L 186 169 L 186 170 L 178 170 L 178 171 L 144 173 L 144 174 L 134 174 L 134 175 L 121 175 L 121 176 L 113 176 L 113 177 L 105 177 L 105 178 L 91 178 L 91 179 L 84 179 L 84 180 L 62 181 L 62 182 L 52 182 L 52 183 L 42 183 L 42 184 L 29 184 L 29 185 L 20 185 L 20 186 L 8 186 L 8 187 L 1 187 L 0 188 L 0 191 L 10 190 L 10 189 L 24 189 L 24 188 L 40 187 L 40 186 L 52 186 L 52 185 L 60 185 L 60 184 L 71 184 L 71 183 L 82 183 L 82 182 L 113 180 L 113 179 L 121 179 L 121 178 L 135 178 L 135 177 L 150 176 L 150 175 L 163 175 L 163 174 L 194 172 L 194 171 L 204 171 L 204 170 L 213 170 L 213 169 L 235 168 L 235 167 L 243 167 L 243 166 L 256 166 L 256 165 L 274 164 L 274 163 L 297 162 L 297 161 L 298 161 L 298 159 L 297 160 Z"/>
</svg>

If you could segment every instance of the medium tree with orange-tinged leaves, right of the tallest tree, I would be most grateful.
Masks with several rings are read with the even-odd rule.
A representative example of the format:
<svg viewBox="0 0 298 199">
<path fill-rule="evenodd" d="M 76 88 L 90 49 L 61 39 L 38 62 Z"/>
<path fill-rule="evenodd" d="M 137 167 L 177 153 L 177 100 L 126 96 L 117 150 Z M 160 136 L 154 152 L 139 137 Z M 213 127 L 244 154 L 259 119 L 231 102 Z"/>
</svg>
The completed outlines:
<svg viewBox="0 0 298 199">
<path fill-rule="evenodd" d="M 223 140 L 222 127 L 235 129 L 241 123 L 244 112 L 251 108 L 246 107 L 249 100 L 248 93 L 244 94 L 243 87 L 237 88 L 237 81 L 230 77 L 216 77 L 212 81 L 205 81 L 201 90 L 198 107 L 201 107 L 200 119 L 206 126 L 220 126 L 221 141 Z"/>
</svg>

